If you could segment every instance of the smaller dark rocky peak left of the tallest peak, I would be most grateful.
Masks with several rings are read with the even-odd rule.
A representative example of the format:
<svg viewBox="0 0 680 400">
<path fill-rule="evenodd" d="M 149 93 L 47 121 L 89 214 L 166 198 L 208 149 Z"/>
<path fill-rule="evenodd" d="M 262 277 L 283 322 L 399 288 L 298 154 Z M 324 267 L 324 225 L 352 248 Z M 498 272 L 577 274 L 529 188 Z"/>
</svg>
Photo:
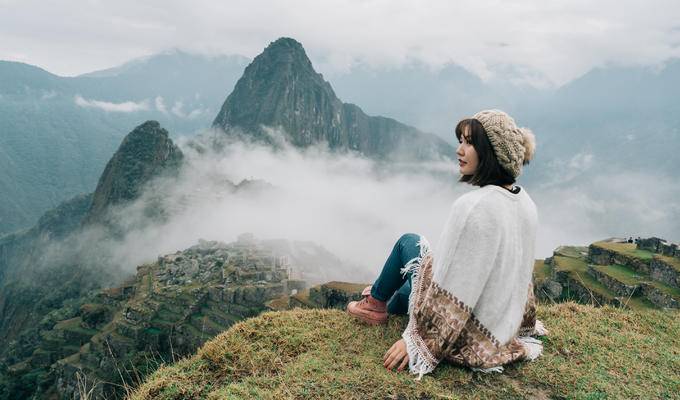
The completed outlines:
<svg viewBox="0 0 680 400">
<path fill-rule="evenodd" d="M 175 172 L 182 159 L 182 151 L 158 122 L 139 125 L 106 164 L 86 223 L 103 222 L 111 206 L 136 199 L 151 179 Z"/>
</svg>

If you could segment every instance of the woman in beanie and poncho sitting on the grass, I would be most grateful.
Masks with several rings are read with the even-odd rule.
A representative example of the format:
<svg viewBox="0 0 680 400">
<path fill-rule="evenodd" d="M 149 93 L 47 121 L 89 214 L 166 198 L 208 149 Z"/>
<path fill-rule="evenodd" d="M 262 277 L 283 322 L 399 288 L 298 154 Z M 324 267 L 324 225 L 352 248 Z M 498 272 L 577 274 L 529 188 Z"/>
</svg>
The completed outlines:
<svg viewBox="0 0 680 400">
<path fill-rule="evenodd" d="M 408 312 L 384 366 L 411 373 L 450 362 L 490 372 L 533 360 L 547 331 L 536 320 L 531 274 L 536 206 L 513 185 L 533 158 L 535 138 L 500 110 L 485 110 L 456 126 L 459 181 L 479 186 L 459 197 L 433 257 L 424 237 L 402 236 L 380 276 L 347 312 L 369 324 Z"/>
</svg>

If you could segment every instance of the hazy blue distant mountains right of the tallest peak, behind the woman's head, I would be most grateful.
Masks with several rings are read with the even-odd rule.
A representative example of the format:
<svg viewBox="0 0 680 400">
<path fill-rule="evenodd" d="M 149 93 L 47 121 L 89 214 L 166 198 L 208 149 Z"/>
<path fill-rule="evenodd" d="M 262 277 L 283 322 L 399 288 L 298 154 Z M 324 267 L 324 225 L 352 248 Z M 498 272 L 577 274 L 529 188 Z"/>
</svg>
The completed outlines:
<svg viewBox="0 0 680 400">
<path fill-rule="evenodd" d="M 436 71 L 417 63 L 385 70 L 358 66 L 327 77 L 342 99 L 368 113 L 398 116 L 445 138 L 452 138 L 460 118 L 480 109 L 508 111 L 538 141 L 532 163 L 541 168 L 527 168 L 525 182 L 561 175 L 568 183 L 603 171 L 672 176 L 680 168 L 678 59 L 658 68 L 600 67 L 547 89 L 513 86 L 502 77 L 485 83 L 455 65 Z M 578 174 L 564 171 L 570 166 Z"/>
</svg>

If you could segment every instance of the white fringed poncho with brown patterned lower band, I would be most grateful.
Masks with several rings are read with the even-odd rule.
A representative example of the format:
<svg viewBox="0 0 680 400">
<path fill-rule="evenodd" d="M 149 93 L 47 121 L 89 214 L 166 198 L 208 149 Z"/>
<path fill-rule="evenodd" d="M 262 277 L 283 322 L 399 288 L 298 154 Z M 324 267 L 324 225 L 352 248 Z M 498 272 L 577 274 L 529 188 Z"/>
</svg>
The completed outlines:
<svg viewBox="0 0 680 400">
<path fill-rule="evenodd" d="M 421 237 L 420 257 L 402 269 L 413 272 L 402 337 L 418 379 L 444 359 L 500 372 L 541 354 L 529 337 L 543 333 L 531 285 L 537 223 L 524 188 L 487 185 L 453 203 L 434 257 Z"/>
</svg>

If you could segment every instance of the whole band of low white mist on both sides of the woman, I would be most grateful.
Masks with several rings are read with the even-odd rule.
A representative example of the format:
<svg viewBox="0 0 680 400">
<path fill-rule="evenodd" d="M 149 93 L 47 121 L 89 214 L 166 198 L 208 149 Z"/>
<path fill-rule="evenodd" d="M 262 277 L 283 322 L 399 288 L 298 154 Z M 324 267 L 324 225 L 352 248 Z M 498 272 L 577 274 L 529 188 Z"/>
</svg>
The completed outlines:
<svg viewBox="0 0 680 400">
<path fill-rule="evenodd" d="M 456 182 L 452 163 L 386 167 L 322 146 L 300 150 L 281 141 L 278 150 L 240 142 L 210 150 L 210 142 L 223 137 L 222 132 L 207 132 L 180 139 L 186 157 L 179 176 L 155 181 L 137 201 L 113 212 L 126 232 L 123 237 L 102 239 L 100 232 L 90 230 L 70 247 L 86 249 L 98 260 L 105 255 L 110 270 L 132 273 L 135 266 L 199 239 L 232 242 L 250 232 L 258 239 L 321 245 L 347 266 L 331 271 L 333 279 L 368 282 L 403 233 L 424 235 L 436 256 L 452 203 L 476 190 Z M 584 153 L 566 163 L 577 167 L 578 160 L 588 158 Z M 244 180 L 254 184 L 234 190 Z M 608 237 L 677 241 L 680 189 L 673 182 L 665 176 L 652 181 L 644 171 L 594 169 L 562 185 L 520 179 L 539 214 L 535 257 L 548 257 L 560 245 L 588 245 Z M 166 218 L 150 219 L 150 208 L 163 210 Z M 315 268 L 320 270 L 317 281 L 328 278 L 328 271 L 322 271 L 328 266 Z"/>
</svg>

